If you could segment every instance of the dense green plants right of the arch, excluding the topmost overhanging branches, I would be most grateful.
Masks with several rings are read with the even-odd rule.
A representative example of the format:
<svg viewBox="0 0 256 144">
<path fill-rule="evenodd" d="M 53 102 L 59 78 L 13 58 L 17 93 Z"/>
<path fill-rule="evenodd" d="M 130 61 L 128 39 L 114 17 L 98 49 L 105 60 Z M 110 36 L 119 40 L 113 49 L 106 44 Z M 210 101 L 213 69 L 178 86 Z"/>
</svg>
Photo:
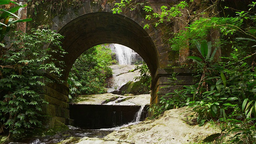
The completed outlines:
<svg viewBox="0 0 256 144">
<path fill-rule="evenodd" d="M 252 12 L 255 3 L 249 6 L 248 12 L 236 12 L 234 18 L 199 18 L 188 25 L 187 30 L 181 30 L 170 39 L 173 50 L 190 43 L 194 53 L 188 58 L 195 62 L 192 68 L 197 83 L 160 98 L 162 105 L 155 107 L 156 110 L 151 108 L 155 115 L 188 106 L 200 126 L 222 120 L 222 124 L 226 124 L 223 131 L 227 135 L 234 133 L 232 143 L 255 143 L 256 74 L 253 60 L 256 18 Z M 220 30 L 220 39 L 212 45 L 207 40 L 210 32 L 216 29 Z M 214 61 L 217 48 L 224 47 L 229 47 L 231 52 L 221 57 L 222 61 Z"/>
</svg>

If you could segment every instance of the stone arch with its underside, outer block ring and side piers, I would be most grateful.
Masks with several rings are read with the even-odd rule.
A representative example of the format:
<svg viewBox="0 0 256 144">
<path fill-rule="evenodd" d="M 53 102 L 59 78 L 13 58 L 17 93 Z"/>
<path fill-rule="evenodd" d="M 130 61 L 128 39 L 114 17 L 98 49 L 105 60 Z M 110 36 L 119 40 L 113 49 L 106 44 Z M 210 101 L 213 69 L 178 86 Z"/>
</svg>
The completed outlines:
<svg viewBox="0 0 256 144">
<path fill-rule="evenodd" d="M 153 3 L 153 6 L 158 7 L 158 3 Z M 122 14 L 112 14 L 110 9 L 108 5 L 103 8 L 85 1 L 82 8 L 67 8 L 66 13 L 52 19 L 52 30 L 65 36 L 62 48 L 68 52 L 64 57 L 56 56 L 66 63 L 63 80 L 68 79 L 72 65 L 85 50 L 98 44 L 117 43 L 136 51 L 148 65 L 152 76 L 150 104 L 158 103 L 161 96 L 174 88 L 191 83 L 192 78 L 189 77 L 180 86 L 166 88 L 171 83 L 168 78 L 172 72 L 180 74 L 178 79 L 184 79 L 187 72 L 168 68 L 168 64 L 174 64 L 176 60 L 175 55 L 170 55 L 168 45 L 162 42 L 164 32 L 152 26 L 144 30 L 145 19 L 136 11 L 124 10 Z M 68 86 L 49 84 L 44 89 L 44 95 L 50 103 L 46 113 L 65 124 L 70 123 Z"/>
</svg>

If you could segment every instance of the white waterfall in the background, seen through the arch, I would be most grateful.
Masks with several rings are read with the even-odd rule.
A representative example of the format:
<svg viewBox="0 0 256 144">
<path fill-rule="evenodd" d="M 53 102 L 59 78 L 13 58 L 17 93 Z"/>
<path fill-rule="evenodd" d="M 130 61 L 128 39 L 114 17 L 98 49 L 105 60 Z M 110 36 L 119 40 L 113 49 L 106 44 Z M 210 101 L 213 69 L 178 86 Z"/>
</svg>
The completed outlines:
<svg viewBox="0 0 256 144">
<path fill-rule="evenodd" d="M 134 50 L 120 44 L 114 44 L 114 47 L 116 49 L 118 63 L 131 65 L 136 54 Z"/>
</svg>

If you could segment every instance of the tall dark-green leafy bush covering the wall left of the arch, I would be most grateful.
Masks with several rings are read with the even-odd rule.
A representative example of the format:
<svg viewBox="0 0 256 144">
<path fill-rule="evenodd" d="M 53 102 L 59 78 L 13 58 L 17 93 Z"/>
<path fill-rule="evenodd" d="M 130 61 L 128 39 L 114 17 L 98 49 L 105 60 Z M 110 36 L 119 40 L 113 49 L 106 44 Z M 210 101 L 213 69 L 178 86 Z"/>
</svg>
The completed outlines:
<svg viewBox="0 0 256 144">
<path fill-rule="evenodd" d="M 48 103 L 40 95 L 42 86 L 61 82 L 63 62 L 52 58 L 53 54 L 65 53 L 61 38 L 44 29 L 32 30 L 31 35 L 16 32 L 12 46 L 0 58 L 0 125 L 10 133 L 21 134 L 26 128 L 42 126 L 42 107 Z M 56 79 L 50 80 L 45 72 Z"/>
</svg>

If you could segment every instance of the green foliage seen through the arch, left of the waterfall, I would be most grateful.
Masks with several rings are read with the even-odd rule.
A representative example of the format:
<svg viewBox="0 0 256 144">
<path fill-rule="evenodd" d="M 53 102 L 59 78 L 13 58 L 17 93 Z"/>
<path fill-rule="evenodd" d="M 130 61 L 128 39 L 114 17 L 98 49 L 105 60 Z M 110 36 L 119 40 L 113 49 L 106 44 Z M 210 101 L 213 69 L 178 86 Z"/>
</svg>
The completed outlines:
<svg viewBox="0 0 256 144">
<path fill-rule="evenodd" d="M 102 94 L 106 92 L 106 78 L 112 75 L 112 69 L 108 66 L 114 62 L 111 55 L 112 52 L 109 48 L 99 45 L 86 50 L 76 60 L 70 76 L 72 74 L 76 76 L 77 82 L 82 85 L 77 86 L 80 92 L 78 94 Z"/>
</svg>

